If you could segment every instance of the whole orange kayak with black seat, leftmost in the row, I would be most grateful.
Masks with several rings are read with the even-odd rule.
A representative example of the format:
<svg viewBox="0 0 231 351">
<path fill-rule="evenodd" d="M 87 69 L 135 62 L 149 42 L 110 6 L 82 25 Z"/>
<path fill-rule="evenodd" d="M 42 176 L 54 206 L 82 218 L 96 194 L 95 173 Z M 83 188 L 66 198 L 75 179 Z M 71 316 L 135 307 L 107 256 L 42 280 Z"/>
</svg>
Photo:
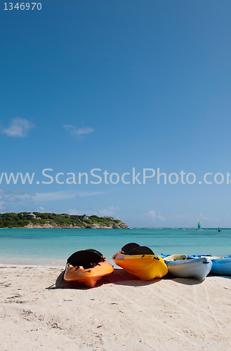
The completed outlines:
<svg viewBox="0 0 231 351">
<path fill-rule="evenodd" d="M 67 259 L 63 279 L 66 282 L 84 283 L 88 288 L 93 288 L 99 279 L 113 270 L 112 265 L 99 251 L 81 250 Z"/>
</svg>

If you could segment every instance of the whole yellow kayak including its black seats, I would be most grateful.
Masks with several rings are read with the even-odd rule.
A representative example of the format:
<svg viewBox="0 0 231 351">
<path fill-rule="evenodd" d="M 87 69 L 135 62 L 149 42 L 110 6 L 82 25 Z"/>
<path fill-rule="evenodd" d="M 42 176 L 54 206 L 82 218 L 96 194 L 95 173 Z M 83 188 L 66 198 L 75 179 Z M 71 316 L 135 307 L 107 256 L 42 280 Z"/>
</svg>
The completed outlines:
<svg viewBox="0 0 231 351">
<path fill-rule="evenodd" d="M 168 272 L 163 258 L 154 255 L 146 246 L 139 246 L 136 243 L 125 245 L 121 251 L 114 254 L 112 260 L 141 280 L 161 278 Z"/>
</svg>

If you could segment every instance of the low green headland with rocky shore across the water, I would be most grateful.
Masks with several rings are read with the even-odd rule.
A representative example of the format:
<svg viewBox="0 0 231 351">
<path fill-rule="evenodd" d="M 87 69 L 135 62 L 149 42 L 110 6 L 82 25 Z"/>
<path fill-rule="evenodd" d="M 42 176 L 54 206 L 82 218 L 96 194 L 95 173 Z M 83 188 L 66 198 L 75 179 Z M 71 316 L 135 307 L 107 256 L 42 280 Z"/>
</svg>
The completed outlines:
<svg viewBox="0 0 231 351">
<path fill-rule="evenodd" d="M 56 214 L 56 213 L 39 213 L 33 212 L 33 216 L 29 216 L 29 212 L 20 213 L 0 213 L 0 227 L 1 228 L 18 228 L 27 227 L 32 225 L 33 227 L 81 227 L 81 228 L 93 228 L 93 227 L 118 227 L 128 228 L 128 226 L 121 220 L 115 220 L 112 218 L 88 216 L 88 219 L 81 218 L 79 216 L 71 216 L 67 213 Z"/>
</svg>

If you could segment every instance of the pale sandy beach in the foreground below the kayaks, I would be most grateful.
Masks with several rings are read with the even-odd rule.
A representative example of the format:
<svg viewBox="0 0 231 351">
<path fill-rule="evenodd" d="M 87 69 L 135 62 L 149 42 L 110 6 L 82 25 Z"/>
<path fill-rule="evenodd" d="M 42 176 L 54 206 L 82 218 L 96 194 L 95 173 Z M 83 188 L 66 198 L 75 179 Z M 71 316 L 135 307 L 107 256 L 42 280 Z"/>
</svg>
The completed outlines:
<svg viewBox="0 0 231 351">
<path fill-rule="evenodd" d="M 63 269 L 1 265 L 1 350 L 231 350 L 230 277 L 116 269 L 86 289 Z"/>
</svg>

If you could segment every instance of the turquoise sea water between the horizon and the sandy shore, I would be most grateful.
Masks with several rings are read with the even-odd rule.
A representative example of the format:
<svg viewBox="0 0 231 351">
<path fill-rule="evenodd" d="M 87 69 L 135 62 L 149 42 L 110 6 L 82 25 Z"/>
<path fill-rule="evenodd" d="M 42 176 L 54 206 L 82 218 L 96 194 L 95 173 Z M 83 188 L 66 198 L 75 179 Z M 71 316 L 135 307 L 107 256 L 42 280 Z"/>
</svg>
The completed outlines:
<svg viewBox="0 0 231 351">
<path fill-rule="evenodd" d="M 160 253 L 231 254 L 231 229 L 0 229 L 0 263 L 63 265 L 82 249 L 96 249 L 112 263 L 112 256 L 128 242 Z"/>
</svg>

